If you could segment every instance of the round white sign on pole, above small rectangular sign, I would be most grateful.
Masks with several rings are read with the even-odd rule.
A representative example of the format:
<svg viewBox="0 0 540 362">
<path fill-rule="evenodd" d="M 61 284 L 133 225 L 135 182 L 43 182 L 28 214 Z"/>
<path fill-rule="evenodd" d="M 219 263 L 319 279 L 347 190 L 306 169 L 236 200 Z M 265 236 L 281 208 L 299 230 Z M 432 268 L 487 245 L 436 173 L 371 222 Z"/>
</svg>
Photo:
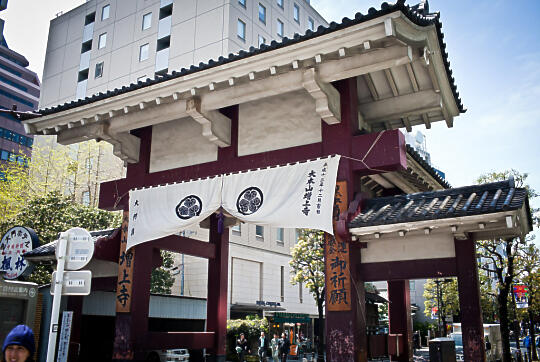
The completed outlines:
<svg viewBox="0 0 540 362">
<path fill-rule="evenodd" d="M 68 242 L 66 251 L 67 270 L 79 270 L 92 259 L 94 255 L 94 241 L 90 233 L 82 228 L 72 228 L 67 231 Z M 59 249 L 56 249 L 58 258 Z"/>
</svg>

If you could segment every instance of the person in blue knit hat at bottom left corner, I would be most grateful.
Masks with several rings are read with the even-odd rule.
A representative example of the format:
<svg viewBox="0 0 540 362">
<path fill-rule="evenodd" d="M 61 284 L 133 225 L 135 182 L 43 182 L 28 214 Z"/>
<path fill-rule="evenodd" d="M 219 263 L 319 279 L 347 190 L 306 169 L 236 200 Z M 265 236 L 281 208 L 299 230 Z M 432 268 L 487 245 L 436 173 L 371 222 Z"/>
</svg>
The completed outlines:
<svg viewBox="0 0 540 362">
<path fill-rule="evenodd" d="M 13 328 L 2 346 L 3 362 L 33 362 L 36 344 L 30 327 L 20 324 Z"/>
</svg>

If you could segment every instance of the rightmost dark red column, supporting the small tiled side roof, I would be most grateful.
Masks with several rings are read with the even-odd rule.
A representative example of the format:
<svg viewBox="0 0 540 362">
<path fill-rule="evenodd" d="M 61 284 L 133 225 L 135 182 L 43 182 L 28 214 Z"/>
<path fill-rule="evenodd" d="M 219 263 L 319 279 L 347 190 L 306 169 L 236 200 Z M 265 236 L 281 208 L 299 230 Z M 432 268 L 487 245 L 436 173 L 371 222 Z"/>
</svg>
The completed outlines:
<svg viewBox="0 0 540 362">
<path fill-rule="evenodd" d="M 474 240 L 455 240 L 463 356 L 465 361 L 486 360 L 480 283 Z"/>
</svg>

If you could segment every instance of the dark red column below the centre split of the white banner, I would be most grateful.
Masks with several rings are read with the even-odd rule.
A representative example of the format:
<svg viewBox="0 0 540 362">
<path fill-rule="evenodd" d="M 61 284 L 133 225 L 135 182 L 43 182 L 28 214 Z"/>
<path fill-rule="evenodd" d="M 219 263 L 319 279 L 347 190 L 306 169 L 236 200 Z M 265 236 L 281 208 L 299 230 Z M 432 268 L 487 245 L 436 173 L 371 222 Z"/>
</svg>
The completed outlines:
<svg viewBox="0 0 540 362">
<path fill-rule="evenodd" d="M 208 260 L 208 298 L 206 301 L 206 330 L 215 333 L 214 347 L 209 349 L 213 361 L 225 362 L 227 337 L 227 275 L 229 258 L 229 230 L 219 218 L 210 217 L 210 243 L 216 246 L 216 257 Z"/>
</svg>

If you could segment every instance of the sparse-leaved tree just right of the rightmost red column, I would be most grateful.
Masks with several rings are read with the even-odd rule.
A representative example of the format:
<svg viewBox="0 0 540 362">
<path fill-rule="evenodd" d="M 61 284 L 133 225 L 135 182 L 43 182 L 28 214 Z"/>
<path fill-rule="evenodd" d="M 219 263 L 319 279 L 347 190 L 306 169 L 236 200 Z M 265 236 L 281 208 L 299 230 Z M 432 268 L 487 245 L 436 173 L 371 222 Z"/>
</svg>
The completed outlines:
<svg viewBox="0 0 540 362">
<path fill-rule="evenodd" d="M 526 184 L 528 174 L 520 173 L 516 170 L 502 172 L 491 172 L 481 175 L 478 183 L 488 183 L 514 178 L 516 187 L 525 187 L 529 198 L 534 198 L 538 194 Z M 537 210 L 532 210 L 533 216 Z M 536 219 L 537 220 L 537 219 Z M 516 282 L 518 268 L 516 258 L 520 250 L 526 247 L 526 240 L 522 238 L 500 238 L 492 240 L 482 240 L 477 244 L 477 253 L 483 261 L 480 268 L 494 275 L 497 281 L 497 306 L 498 316 L 501 324 L 501 337 L 503 342 L 503 362 L 511 361 L 510 354 L 510 316 L 509 304 L 511 302 L 512 286 Z M 517 331 L 516 331 L 517 333 Z"/>
</svg>

